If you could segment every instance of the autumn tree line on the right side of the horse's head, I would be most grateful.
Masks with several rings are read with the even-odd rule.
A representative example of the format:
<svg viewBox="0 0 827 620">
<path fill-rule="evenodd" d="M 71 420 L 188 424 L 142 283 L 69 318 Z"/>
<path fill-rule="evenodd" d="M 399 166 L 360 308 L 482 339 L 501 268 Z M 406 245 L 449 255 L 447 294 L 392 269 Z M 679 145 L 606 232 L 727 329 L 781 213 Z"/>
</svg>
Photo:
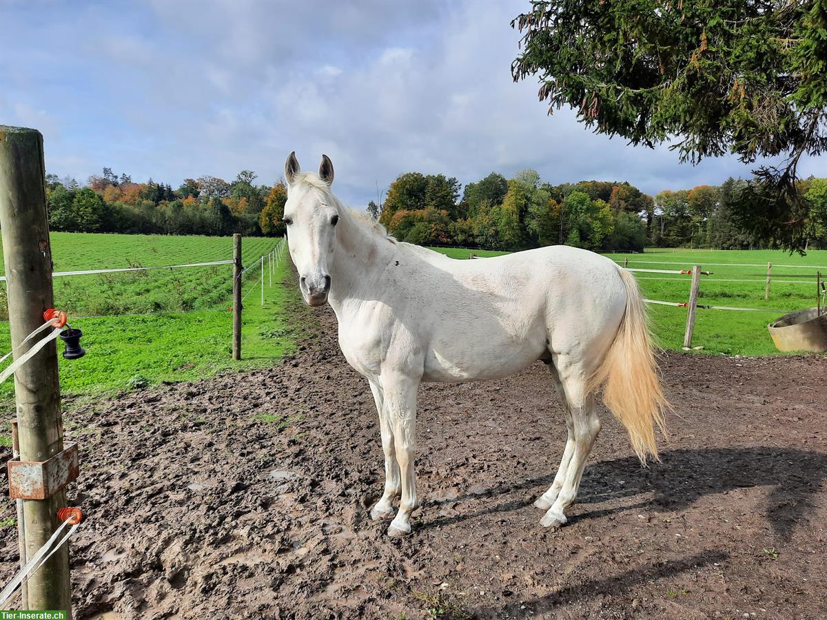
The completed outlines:
<svg viewBox="0 0 827 620">
<path fill-rule="evenodd" d="M 644 246 L 723 250 L 773 246 L 739 221 L 734 203 L 742 179 L 720 186 L 664 190 L 653 198 L 628 182 L 552 185 L 527 169 L 505 179 L 491 173 L 461 184 L 444 174 L 401 174 L 381 206 L 368 211 L 399 241 L 525 250 L 565 244 L 595 251 L 642 251 Z M 810 247 L 827 246 L 827 179 L 801 181 L 817 223 Z"/>
</svg>

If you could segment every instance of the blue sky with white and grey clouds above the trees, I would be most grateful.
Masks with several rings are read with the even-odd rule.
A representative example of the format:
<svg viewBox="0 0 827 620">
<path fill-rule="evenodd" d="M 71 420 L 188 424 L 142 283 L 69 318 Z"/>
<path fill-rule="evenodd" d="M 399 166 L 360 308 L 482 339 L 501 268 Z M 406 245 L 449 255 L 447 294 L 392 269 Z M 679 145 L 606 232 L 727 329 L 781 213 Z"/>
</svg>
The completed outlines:
<svg viewBox="0 0 827 620">
<path fill-rule="evenodd" d="M 537 169 L 552 183 L 629 180 L 648 193 L 719 184 L 754 166 L 681 165 L 546 114 L 514 83 L 529 2 L 0 2 L 0 123 L 45 138 L 47 171 L 109 166 L 177 187 L 252 169 L 279 178 L 321 154 L 364 206 L 400 173 Z M 827 174 L 810 158 L 802 174 Z"/>
</svg>

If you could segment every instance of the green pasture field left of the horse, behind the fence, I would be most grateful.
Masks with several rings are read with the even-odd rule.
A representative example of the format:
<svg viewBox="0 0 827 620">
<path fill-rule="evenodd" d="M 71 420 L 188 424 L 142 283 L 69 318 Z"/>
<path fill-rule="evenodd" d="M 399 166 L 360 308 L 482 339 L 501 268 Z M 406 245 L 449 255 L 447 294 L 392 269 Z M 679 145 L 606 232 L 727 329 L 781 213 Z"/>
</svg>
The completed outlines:
<svg viewBox="0 0 827 620">
<path fill-rule="evenodd" d="M 51 238 L 55 271 L 232 258 L 229 237 L 56 232 Z M 245 238 L 244 265 L 267 254 L 276 241 Z M 288 260 L 281 260 L 271 287 L 265 267 L 264 306 L 256 284 L 260 269 L 245 276 L 243 291 L 249 294 L 244 300 L 240 361 L 232 360 L 232 265 L 55 278 L 55 306 L 67 310 L 70 324 L 84 331 L 81 344 L 87 350 L 79 360 L 59 355 L 62 393 L 69 398 L 93 397 L 272 365 L 292 350 L 292 334 L 300 328 L 284 317 L 285 306 L 295 303 L 283 285 L 290 274 Z M 4 296 L 5 287 L 0 289 Z M 0 306 L 7 312 L 5 298 Z M 84 316 L 102 313 L 108 316 Z M 0 323 L 0 351 L 10 347 L 8 323 Z M 12 406 L 13 398 L 10 379 L 0 384 L 0 403 Z"/>
</svg>

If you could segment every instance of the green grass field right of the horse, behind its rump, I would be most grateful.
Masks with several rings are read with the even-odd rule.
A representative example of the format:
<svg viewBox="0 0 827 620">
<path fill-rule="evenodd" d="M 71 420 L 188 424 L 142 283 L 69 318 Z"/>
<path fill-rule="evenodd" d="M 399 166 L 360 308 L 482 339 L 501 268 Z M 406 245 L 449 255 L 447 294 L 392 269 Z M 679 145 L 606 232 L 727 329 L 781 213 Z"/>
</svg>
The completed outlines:
<svg viewBox="0 0 827 620">
<path fill-rule="evenodd" d="M 503 252 L 433 248 L 453 258 L 499 255 Z M 815 274 L 827 274 L 827 250 L 810 250 L 806 256 L 775 250 L 671 250 L 648 249 L 643 254 L 610 254 L 609 258 L 629 268 L 691 269 L 700 265 L 712 275 L 702 276 L 698 303 L 711 306 L 767 308 L 766 312 L 736 312 L 699 309 L 693 346 L 706 353 L 724 355 L 779 355 L 767 331 L 767 323 L 783 312 L 815 306 Z M 770 299 L 764 299 L 767 263 L 772 262 Z M 661 265 L 660 263 L 664 263 Z M 758 265 L 758 266 L 743 266 Z M 805 275 L 806 277 L 798 277 Z M 649 299 L 686 302 L 691 276 L 635 272 L 643 295 Z M 732 280 L 746 280 L 733 282 Z M 686 327 L 686 308 L 649 305 L 653 332 L 660 346 L 680 351 Z"/>
</svg>

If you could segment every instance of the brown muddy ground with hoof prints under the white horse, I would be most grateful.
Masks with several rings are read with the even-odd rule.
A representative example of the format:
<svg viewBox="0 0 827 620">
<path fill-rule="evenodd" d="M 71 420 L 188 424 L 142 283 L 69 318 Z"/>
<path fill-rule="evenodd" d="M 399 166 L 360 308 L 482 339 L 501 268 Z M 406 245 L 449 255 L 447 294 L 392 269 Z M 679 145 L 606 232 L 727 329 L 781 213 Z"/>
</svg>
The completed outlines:
<svg viewBox="0 0 827 620">
<path fill-rule="evenodd" d="M 825 358 L 667 355 L 662 463 L 641 469 L 604 412 L 559 531 L 531 505 L 565 436 L 543 365 L 424 385 L 423 507 L 400 541 L 367 513 L 384 475 L 367 384 L 329 309 L 304 322 L 272 370 L 67 404 L 77 618 L 827 615 Z"/>
</svg>

